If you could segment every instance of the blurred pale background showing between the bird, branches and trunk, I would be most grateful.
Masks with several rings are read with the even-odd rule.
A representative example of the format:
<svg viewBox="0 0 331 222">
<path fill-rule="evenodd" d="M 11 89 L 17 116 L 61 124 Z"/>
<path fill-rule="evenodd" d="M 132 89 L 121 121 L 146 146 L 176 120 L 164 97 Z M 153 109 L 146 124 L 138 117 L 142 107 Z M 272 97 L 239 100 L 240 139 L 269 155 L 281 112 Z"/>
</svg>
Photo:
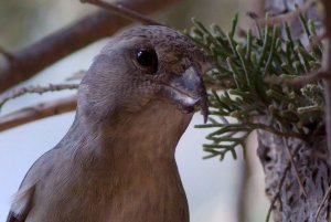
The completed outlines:
<svg viewBox="0 0 331 222">
<path fill-rule="evenodd" d="M 239 12 L 241 27 L 245 28 L 245 11 L 252 10 L 252 4 L 245 3 L 244 0 L 183 0 L 152 18 L 179 30 L 190 29 L 192 17 L 206 25 L 217 23 L 228 30 L 234 13 Z M 0 46 L 8 51 L 20 50 L 95 10 L 95 7 L 82 4 L 78 0 L 1 0 Z M 21 85 L 46 86 L 65 82 L 77 71 L 87 70 L 106 41 L 86 46 Z M 0 115 L 73 93 L 24 95 L 7 103 Z M 6 221 L 11 197 L 30 166 L 58 142 L 73 118 L 74 113 L 63 114 L 0 133 L 0 221 Z M 269 202 L 265 198 L 263 169 L 256 157 L 255 135 L 247 141 L 249 148 L 245 161 L 241 157 L 233 160 L 231 156 L 223 161 L 217 158 L 203 160 L 206 154 L 202 144 L 210 130 L 194 128 L 202 123 L 201 115 L 196 114 L 177 150 L 191 222 L 265 221 Z"/>
</svg>

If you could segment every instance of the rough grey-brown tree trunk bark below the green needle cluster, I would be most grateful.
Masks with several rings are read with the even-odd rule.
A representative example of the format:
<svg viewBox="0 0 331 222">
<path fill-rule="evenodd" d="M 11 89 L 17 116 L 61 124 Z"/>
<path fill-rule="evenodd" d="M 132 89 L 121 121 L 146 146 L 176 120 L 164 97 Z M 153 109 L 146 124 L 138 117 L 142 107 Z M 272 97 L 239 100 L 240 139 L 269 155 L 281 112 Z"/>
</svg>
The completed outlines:
<svg viewBox="0 0 331 222">
<path fill-rule="evenodd" d="M 293 163 L 290 163 L 286 154 L 284 138 L 258 131 L 257 154 L 265 171 L 266 194 L 271 202 L 274 221 L 312 222 L 329 187 L 327 142 L 324 137 L 317 137 L 312 144 L 295 138 L 287 139 L 287 144 L 295 154 Z M 296 176 L 295 166 L 302 184 Z M 307 197 L 301 191 L 301 186 Z M 318 222 L 328 222 L 329 212 L 329 205 L 322 208 Z"/>
</svg>

